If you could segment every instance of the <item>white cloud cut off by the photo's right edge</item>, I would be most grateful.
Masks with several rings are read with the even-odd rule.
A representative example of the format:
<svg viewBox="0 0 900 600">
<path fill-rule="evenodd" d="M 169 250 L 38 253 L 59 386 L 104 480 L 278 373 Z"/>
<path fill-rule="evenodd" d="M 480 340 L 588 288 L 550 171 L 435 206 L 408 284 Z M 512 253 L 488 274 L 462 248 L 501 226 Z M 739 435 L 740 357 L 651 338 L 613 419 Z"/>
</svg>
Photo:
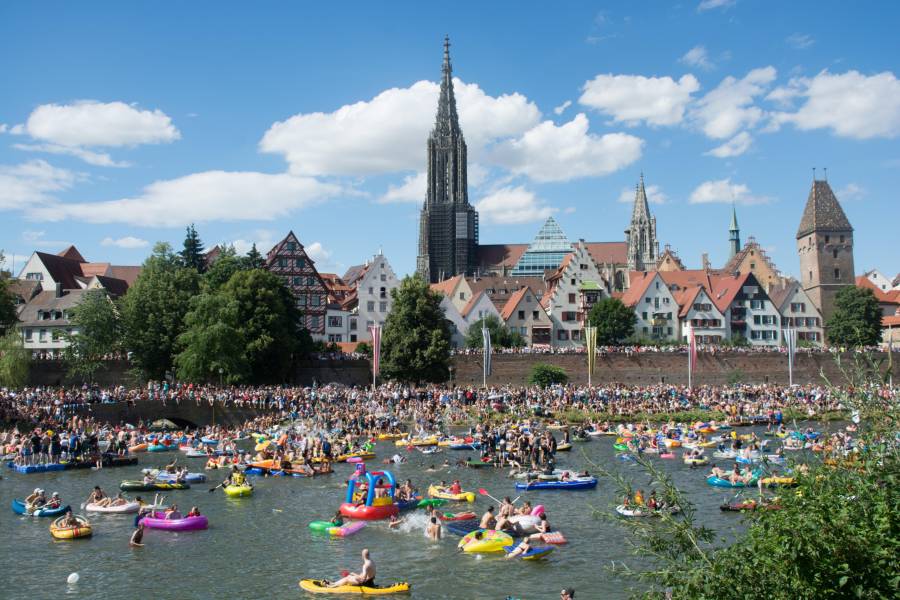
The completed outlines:
<svg viewBox="0 0 900 600">
<path fill-rule="evenodd" d="M 792 79 L 769 98 L 782 104 L 805 99 L 796 112 L 776 113 L 775 127 L 793 123 L 797 129 L 830 129 L 855 139 L 900 135 L 900 81 L 889 71 L 871 76 L 822 71 L 813 78 Z"/>
</svg>

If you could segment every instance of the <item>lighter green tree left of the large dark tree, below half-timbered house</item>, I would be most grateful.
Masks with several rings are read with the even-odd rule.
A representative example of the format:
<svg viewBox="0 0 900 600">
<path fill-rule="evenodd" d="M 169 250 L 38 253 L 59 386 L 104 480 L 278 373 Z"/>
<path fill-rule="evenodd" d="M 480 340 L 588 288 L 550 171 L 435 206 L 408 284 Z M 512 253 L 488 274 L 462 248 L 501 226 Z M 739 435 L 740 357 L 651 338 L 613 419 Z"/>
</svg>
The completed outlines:
<svg viewBox="0 0 900 600">
<path fill-rule="evenodd" d="M 250 366 L 239 313 L 237 299 L 223 292 L 191 301 L 185 331 L 178 336 L 181 352 L 175 357 L 180 379 L 239 383 L 247 378 Z"/>
</svg>

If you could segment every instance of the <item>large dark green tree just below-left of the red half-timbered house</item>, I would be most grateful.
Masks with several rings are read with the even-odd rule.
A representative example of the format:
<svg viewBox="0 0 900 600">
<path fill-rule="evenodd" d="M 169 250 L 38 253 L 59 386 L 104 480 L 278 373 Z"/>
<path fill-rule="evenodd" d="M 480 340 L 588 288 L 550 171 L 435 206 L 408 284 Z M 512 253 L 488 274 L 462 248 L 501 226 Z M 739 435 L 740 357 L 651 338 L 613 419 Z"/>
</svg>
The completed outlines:
<svg viewBox="0 0 900 600">
<path fill-rule="evenodd" d="M 312 339 L 301 330 L 294 297 L 277 275 L 259 269 L 238 271 L 222 287 L 237 302 L 244 357 L 255 382 L 288 379 L 294 361 L 309 351 Z"/>
</svg>

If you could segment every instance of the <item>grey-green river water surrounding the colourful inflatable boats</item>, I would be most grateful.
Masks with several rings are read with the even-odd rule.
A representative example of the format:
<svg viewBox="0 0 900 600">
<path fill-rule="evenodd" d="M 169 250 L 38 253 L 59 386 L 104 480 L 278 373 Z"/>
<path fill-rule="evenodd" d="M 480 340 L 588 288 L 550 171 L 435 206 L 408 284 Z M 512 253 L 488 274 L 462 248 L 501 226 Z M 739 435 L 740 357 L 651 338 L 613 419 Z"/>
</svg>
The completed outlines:
<svg viewBox="0 0 900 600">
<path fill-rule="evenodd" d="M 743 432 L 746 432 L 744 429 Z M 742 433 L 743 433 L 742 432 Z M 639 468 L 617 460 L 614 438 L 601 437 L 576 444 L 560 453 L 559 467 L 591 469 L 591 461 L 606 468 L 632 473 L 646 489 Z M 379 461 L 394 454 L 392 442 L 379 442 Z M 400 450 L 409 461 L 390 468 L 398 480 L 410 478 L 420 489 L 441 479 L 458 478 L 463 488 L 486 488 L 495 497 L 515 497 L 513 480 L 494 469 L 441 469 L 425 473 L 431 464 L 464 458 L 465 452 L 448 449 L 426 456 Z M 4 469 L 0 481 L 0 598 L 312 598 L 298 587 L 301 578 L 335 579 L 343 569 L 358 570 L 362 548 L 369 548 L 384 584 L 407 580 L 410 597 L 424 599 L 495 598 L 508 595 L 523 599 L 559 598 L 563 587 L 574 587 L 579 598 L 623 598 L 629 582 L 617 581 L 606 572 L 611 561 L 628 558 L 624 530 L 614 522 L 597 519 L 592 508 L 611 513 L 613 483 L 601 479 L 590 491 L 531 491 L 532 505 L 543 504 L 551 525 L 569 543 L 541 561 L 505 561 L 499 555 L 458 553 L 459 538 L 444 532 L 440 542 L 424 536 L 423 511 L 407 513 L 400 530 L 384 522 L 370 523 L 358 534 L 329 539 L 311 532 L 307 524 L 328 519 L 343 501 L 352 465 L 337 464 L 332 475 L 316 478 L 256 477 L 250 498 L 230 499 L 221 492 L 207 493 L 218 483 L 194 484 L 190 490 L 170 492 L 170 501 L 187 510 L 197 505 L 209 517 L 206 531 L 171 533 L 147 530 L 144 548 L 131 548 L 128 540 L 134 515 L 89 515 L 94 536 L 86 540 L 54 541 L 48 531 L 52 519 L 21 517 L 9 509 L 13 498 L 24 498 L 35 487 L 48 495 L 60 492 L 63 501 L 78 510 L 94 485 L 115 492 L 123 479 L 139 479 L 140 469 L 161 466 L 173 453 L 142 454 L 140 465 L 101 471 L 78 470 L 21 475 Z M 187 461 L 192 471 L 202 469 L 202 459 Z M 724 463 L 725 461 L 720 461 Z M 377 468 L 378 461 L 370 462 Z M 740 515 L 723 513 L 719 504 L 729 490 L 706 485 L 706 468 L 690 469 L 676 460 L 660 460 L 676 484 L 696 503 L 704 524 L 726 537 L 740 527 Z M 380 466 L 380 465 L 379 465 Z M 146 498 L 152 494 L 143 494 Z M 479 515 L 489 501 L 478 497 Z M 471 507 L 472 505 L 468 505 Z M 467 508 L 449 505 L 444 510 Z M 66 582 L 77 572 L 75 585 Z"/>
</svg>

